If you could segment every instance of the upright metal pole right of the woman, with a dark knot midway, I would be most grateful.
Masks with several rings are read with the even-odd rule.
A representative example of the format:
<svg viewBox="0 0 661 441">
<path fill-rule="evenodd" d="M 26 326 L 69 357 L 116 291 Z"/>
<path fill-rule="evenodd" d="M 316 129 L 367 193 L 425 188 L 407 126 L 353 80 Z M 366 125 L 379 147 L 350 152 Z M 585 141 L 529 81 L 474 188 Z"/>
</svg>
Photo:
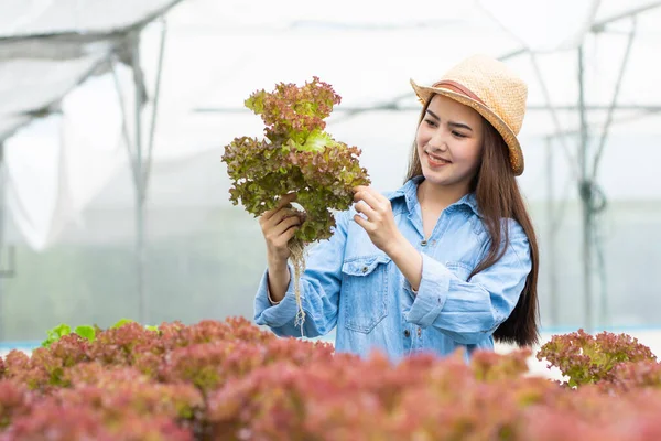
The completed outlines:
<svg viewBox="0 0 661 441">
<path fill-rule="evenodd" d="M 592 299 L 592 247 L 590 247 L 590 227 L 592 227 L 592 189 L 587 181 L 587 121 L 585 117 L 585 82 L 583 66 L 583 45 L 578 46 L 578 109 L 581 116 L 581 142 L 578 144 L 578 170 L 581 178 L 578 181 L 578 194 L 581 195 L 583 209 L 583 295 L 585 308 L 585 330 L 590 333 L 594 329 L 593 323 L 593 299 Z"/>
</svg>

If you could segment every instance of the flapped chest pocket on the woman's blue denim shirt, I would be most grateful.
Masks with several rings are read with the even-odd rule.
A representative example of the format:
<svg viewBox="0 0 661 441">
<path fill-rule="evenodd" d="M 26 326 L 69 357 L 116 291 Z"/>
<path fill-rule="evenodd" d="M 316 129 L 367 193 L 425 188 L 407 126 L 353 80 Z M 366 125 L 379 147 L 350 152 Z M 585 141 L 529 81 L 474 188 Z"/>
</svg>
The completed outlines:
<svg viewBox="0 0 661 441">
<path fill-rule="evenodd" d="M 388 315 L 388 263 L 383 255 L 343 263 L 345 327 L 368 334 Z"/>
</svg>

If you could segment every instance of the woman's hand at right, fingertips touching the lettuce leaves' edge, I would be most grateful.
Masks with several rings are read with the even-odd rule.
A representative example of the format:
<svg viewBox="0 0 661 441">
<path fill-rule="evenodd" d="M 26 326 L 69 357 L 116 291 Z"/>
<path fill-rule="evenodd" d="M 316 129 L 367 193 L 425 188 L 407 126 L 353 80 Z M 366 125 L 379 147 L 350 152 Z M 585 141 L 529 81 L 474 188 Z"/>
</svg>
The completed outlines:
<svg viewBox="0 0 661 441">
<path fill-rule="evenodd" d="M 359 185 L 354 189 L 354 201 L 356 211 L 365 215 L 356 214 L 354 220 L 360 225 L 369 235 L 371 241 L 386 254 L 395 246 L 401 236 L 390 200 L 369 186 Z"/>
</svg>

